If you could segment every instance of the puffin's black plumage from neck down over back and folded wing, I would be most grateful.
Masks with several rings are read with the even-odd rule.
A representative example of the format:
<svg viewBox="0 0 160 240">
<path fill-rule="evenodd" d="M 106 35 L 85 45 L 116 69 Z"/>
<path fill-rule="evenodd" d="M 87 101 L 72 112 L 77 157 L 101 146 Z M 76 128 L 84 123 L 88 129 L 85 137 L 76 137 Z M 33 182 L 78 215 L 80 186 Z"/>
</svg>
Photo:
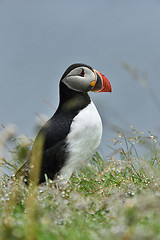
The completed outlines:
<svg viewBox="0 0 160 240">
<path fill-rule="evenodd" d="M 63 94 L 63 92 L 65 94 Z M 60 103 L 53 117 L 41 128 L 39 136 L 44 137 L 42 164 L 39 183 L 48 178 L 54 179 L 63 167 L 66 159 L 66 136 L 70 131 L 73 118 L 90 103 L 87 93 L 75 92 L 60 83 Z"/>
</svg>

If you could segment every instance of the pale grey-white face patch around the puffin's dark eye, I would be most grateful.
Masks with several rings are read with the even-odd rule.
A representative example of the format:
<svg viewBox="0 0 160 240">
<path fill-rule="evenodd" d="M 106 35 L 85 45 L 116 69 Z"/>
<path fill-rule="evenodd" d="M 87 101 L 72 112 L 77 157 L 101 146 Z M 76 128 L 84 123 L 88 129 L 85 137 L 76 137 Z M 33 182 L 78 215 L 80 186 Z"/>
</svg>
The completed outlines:
<svg viewBox="0 0 160 240">
<path fill-rule="evenodd" d="M 79 92 L 88 92 L 95 84 L 95 73 L 85 67 L 77 67 L 70 71 L 65 78 L 62 79 L 69 88 Z"/>
</svg>

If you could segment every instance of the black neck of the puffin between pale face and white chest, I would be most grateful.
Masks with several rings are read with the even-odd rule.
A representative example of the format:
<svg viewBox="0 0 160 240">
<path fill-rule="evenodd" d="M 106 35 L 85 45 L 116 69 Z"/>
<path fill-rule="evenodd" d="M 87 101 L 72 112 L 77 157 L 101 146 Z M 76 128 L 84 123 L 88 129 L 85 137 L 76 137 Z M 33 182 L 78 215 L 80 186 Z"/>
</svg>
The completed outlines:
<svg viewBox="0 0 160 240">
<path fill-rule="evenodd" d="M 60 103 L 58 108 L 65 112 L 80 111 L 91 102 L 87 92 L 74 91 L 63 82 L 60 82 L 59 94 Z"/>
</svg>

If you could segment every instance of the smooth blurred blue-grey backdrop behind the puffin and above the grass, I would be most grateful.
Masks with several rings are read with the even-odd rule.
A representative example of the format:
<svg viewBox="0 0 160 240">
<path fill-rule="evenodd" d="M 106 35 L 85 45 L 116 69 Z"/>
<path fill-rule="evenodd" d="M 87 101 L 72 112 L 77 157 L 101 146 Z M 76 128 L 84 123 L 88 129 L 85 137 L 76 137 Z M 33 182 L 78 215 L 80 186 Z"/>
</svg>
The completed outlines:
<svg viewBox="0 0 160 240">
<path fill-rule="evenodd" d="M 1 0 L 0 123 L 34 138 L 51 117 L 65 69 L 82 62 L 102 72 L 113 92 L 90 93 L 108 139 L 130 125 L 160 133 L 160 1 Z"/>
</svg>

